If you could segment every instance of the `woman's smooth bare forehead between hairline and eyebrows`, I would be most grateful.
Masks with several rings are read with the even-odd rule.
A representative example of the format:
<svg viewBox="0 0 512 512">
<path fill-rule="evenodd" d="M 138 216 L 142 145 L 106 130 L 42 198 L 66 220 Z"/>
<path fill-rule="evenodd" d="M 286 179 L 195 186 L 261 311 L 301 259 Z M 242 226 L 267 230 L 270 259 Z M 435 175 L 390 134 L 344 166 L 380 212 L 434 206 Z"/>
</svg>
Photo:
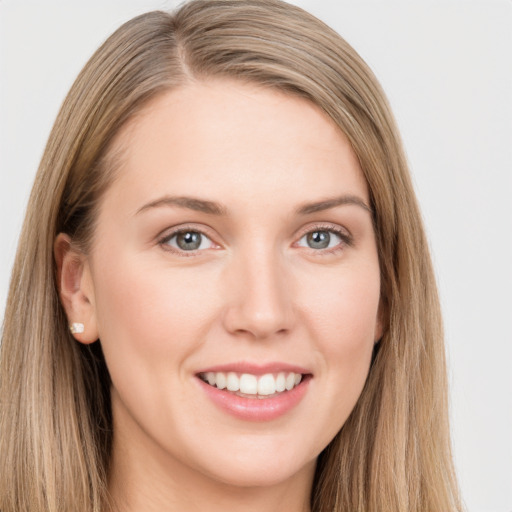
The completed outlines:
<svg viewBox="0 0 512 512">
<path fill-rule="evenodd" d="M 348 139 L 319 107 L 236 81 L 159 96 L 120 132 L 113 152 L 120 148 L 116 181 L 126 199 L 165 192 L 243 203 L 352 193 L 368 201 Z"/>
</svg>

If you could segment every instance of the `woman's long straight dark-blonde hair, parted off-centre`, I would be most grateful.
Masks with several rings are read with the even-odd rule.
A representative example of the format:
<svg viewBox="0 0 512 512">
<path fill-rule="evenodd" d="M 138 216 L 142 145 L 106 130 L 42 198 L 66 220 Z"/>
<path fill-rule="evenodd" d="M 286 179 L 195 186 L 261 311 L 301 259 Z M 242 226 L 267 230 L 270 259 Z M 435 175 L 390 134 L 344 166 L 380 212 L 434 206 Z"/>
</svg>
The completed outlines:
<svg viewBox="0 0 512 512">
<path fill-rule="evenodd" d="M 349 138 L 370 190 L 386 329 L 355 409 L 319 457 L 312 510 L 461 510 L 439 301 L 393 116 L 357 53 L 279 0 L 196 0 L 139 16 L 101 46 L 69 92 L 32 190 L 5 313 L 0 509 L 108 508 L 108 371 L 99 342 L 77 344 L 68 332 L 53 243 L 65 232 L 87 250 L 120 127 L 156 95 L 210 77 L 320 106 Z"/>
</svg>

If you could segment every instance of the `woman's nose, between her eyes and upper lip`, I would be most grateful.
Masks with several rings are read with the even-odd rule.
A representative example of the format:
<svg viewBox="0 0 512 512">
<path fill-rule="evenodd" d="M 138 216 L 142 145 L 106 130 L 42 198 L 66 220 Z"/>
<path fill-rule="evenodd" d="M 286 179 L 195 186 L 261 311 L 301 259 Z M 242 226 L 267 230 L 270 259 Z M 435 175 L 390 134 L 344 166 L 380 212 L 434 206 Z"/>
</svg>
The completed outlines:
<svg viewBox="0 0 512 512">
<path fill-rule="evenodd" d="M 224 312 L 228 332 L 263 340 L 291 331 L 296 317 L 292 280 L 278 255 L 241 255 L 229 273 Z"/>
</svg>

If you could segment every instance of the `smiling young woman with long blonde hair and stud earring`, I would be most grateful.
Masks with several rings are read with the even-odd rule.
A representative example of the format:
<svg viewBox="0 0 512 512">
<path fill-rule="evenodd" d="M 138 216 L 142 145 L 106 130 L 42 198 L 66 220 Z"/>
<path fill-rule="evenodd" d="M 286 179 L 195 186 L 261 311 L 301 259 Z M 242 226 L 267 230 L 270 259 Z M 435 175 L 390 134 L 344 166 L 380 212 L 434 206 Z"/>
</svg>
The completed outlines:
<svg viewBox="0 0 512 512">
<path fill-rule="evenodd" d="M 460 510 L 392 115 L 282 2 L 148 13 L 91 58 L 36 178 L 1 365 L 3 512 Z"/>
</svg>

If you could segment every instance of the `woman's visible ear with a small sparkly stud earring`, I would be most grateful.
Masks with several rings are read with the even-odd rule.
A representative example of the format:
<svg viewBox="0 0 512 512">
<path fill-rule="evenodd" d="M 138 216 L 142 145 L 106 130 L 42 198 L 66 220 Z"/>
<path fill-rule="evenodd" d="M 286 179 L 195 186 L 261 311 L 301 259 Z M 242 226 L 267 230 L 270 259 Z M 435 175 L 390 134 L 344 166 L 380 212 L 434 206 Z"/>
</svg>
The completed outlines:
<svg viewBox="0 0 512 512">
<path fill-rule="evenodd" d="M 53 245 L 57 263 L 57 287 L 69 325 L 80 323 L 82 329 L 73 336 L 80 343 L 93 343 L 98 339 L 94 285 L 91 270 L 83 252 L 73 246 L 68 235 L 60 233 Z"/>
</svg>

